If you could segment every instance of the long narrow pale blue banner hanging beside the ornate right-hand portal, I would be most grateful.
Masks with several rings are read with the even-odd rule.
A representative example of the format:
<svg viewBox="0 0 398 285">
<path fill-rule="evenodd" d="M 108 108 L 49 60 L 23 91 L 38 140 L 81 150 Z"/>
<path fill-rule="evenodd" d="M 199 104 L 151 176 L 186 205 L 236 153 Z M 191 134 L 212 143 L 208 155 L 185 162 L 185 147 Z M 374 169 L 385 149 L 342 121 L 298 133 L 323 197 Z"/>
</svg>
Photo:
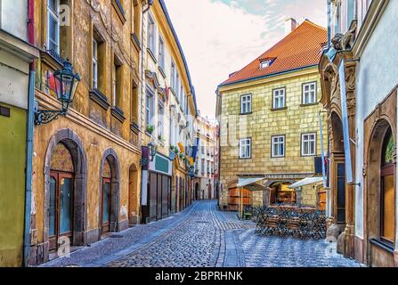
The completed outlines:
<svg viewBox="0 0 398 285">
<path fill-rule="evenodd" d="M 347 94 L 345 87 L 345 61 L 342 60 L 338 68 L 338 76 L 340 77 L 340 99 L 343 121 L 343 136 L 345 150 L 345 177 L 347 183 L 353 183 L 353 169 L 351 167 L 351 149 L 350 134 L 348 129 L 348 110 L 347 110 Z"/>
</svg>

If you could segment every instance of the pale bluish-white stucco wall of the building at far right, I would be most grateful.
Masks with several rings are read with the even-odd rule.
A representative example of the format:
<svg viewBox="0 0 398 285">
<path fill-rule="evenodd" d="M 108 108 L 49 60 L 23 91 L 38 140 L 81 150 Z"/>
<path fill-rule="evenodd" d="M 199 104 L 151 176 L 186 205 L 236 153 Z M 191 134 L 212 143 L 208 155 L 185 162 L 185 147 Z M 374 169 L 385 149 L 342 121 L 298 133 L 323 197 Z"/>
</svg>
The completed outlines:
<svg viewBox="0 0 398 285">
<path fill-rule="evenodd" d="M 355 235 L 363 238 L 363 120 L 370 115 L 398 84 L 398 1 L 390 1 L 363 53 L 356 69 L 356 126 L 358 134 L 355 187 Z M 398 195 L 396 201 L 398 207 Z M 397 213 L 398 214 L 398 213 Z M 398 221 L 398 218 L 396 219 Z M 398 229 L 398 227 L 396 227 Z M 398 237 L 398 235 L 397 235 Z M 398 243 L 395 243 L 398 246 Z"/>
</svg>

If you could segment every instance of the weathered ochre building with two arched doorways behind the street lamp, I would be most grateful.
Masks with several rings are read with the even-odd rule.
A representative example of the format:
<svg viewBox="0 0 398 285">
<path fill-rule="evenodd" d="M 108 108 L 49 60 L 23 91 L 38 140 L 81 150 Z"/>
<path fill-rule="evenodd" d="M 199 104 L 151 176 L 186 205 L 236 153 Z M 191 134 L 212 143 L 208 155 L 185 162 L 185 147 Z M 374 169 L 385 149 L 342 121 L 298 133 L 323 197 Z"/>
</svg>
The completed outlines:
<svg viewBox="0 0 398 285">
<path fill-rule="evenodd" d="M 81 81 L 66 116 L 35 127 L 30 265 L 138 223 L 142 157 L 144 3 L 34 4 L 38 110 L 61 110 L 53 72 L 67 58 Z"/>
</svg>

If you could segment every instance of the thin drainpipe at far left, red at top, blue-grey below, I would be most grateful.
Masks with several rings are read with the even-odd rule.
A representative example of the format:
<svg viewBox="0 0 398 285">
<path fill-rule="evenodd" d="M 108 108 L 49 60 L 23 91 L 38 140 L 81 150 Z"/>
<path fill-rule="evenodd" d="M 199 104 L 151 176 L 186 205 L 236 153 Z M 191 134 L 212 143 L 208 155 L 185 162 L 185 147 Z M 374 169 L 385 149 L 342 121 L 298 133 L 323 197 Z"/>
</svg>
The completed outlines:
<svg viewBox="0 0 398 285">
<path fill-rule="evenodd" d="M 35 45 L 35 0 L 28 0 L 28 43 Z M 23 232 L 23 266 L 28 267 L 30 251 L 30 210 L 32 199 L 32 172 L 33 172 L 33 136 L 34 136 L 34 109 L 35 109 L 35 77 L 36 64 L 32 61 L 29 66 L 28 85 L 28 118 L 27 118 L 27 150 L 25 175 L 25 218 Z"/>
</svg>

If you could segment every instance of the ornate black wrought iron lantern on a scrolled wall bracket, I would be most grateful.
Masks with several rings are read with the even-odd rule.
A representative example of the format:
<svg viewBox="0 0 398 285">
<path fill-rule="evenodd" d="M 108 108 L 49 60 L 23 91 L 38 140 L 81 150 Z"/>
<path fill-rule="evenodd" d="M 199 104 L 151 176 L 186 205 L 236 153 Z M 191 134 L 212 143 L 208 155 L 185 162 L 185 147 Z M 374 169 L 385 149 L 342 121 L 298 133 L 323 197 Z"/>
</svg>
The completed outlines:
<svg viewBox="0 0 398 285">
<path fill-rule="evenodd" d="M 50 123 L 59 116 L 67 114 L 69 104 L 73 102 L 77 85 L 80 82 L 80 76 L 78 73 L 73 73 L 73 67 L 69 59 L 64 61 L 61 70 L 57 69 L 53 73 L 53 77 L 55 79 L 57 99 L 61 102 L 61 110 L 37 110 L 35 113 L 35 123 L 37 126 Z"/>
</svg>

